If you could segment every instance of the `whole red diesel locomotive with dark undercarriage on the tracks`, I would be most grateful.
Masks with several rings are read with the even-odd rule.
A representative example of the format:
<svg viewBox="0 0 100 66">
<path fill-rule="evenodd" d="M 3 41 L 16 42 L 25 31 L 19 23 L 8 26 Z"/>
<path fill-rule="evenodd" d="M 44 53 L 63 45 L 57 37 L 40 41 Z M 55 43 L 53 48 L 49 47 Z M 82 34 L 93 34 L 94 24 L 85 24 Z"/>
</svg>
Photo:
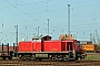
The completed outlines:
<svg viewBox="0 0 100 66">
<path fill-rule="evenodd" d="M 84 58 L 84 52 L 77 40 L 51 40 L 47 35 L 40 42 L 19 42 L 18 56 L 20 59 L 31 61 L 76 61 Z"/>
</svg>

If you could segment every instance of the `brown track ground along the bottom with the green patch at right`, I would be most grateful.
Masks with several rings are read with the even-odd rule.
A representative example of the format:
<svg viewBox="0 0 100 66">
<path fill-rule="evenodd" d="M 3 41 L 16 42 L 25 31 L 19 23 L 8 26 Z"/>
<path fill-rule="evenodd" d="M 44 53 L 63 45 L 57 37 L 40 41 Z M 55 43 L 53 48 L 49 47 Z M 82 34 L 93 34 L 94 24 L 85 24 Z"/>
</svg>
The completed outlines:
<svg viewBox="0 0 100 66">
<path fill-rule="evenodd" d="M 86 59 L 77 62 L 0 61 L 0 66 L 100 66 L 100 53 L 87 53 Z"/>
</svg>

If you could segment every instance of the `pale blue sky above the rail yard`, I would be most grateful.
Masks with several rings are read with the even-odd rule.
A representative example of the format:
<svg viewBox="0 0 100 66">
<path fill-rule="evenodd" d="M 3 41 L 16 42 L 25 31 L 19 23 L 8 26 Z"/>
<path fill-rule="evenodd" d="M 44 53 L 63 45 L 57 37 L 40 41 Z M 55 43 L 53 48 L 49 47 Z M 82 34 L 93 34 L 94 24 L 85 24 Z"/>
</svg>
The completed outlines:
<svg viewBox="0 0 100 66">
<path fill-rule="evenodd" d="M 68 4 L 70 4 L 70 34 L 77 40 L 98 40 L 100 35 L 100 0 L 0 0 L 0 43 L 14 43 L 38 34 L 58 40 L 68 34 Z M 96 34 L 98 33 L 98 36 Z M 94 35 L 94 36 L 93 36 Z"/>
</svg>

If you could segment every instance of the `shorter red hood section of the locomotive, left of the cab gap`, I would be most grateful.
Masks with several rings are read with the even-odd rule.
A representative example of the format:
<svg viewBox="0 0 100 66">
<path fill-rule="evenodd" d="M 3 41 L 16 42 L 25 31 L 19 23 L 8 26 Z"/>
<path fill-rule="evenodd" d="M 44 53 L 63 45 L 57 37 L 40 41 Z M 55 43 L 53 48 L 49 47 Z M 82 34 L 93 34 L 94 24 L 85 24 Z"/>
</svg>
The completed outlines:
<svg viewBox="0 0 100 66">
<path fill-rule="evenodd" d="M 40 42 L 19 42 L 19 52 L 40 52 L 41 51 L 41 43 Z"/>
</svg>

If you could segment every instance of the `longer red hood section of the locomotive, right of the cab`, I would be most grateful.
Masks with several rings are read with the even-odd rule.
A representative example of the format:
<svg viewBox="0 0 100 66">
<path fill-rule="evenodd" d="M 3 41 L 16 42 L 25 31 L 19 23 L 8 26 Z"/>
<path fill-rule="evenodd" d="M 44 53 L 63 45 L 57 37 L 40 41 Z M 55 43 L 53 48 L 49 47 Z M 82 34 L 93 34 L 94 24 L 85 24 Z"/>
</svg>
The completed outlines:
<svg viewBox="0 0 100 66">
<path fill-rule="evenodd" d="M 44 41 L 44 52 L 72 52 L 76 40 Z"/>
</svg>

